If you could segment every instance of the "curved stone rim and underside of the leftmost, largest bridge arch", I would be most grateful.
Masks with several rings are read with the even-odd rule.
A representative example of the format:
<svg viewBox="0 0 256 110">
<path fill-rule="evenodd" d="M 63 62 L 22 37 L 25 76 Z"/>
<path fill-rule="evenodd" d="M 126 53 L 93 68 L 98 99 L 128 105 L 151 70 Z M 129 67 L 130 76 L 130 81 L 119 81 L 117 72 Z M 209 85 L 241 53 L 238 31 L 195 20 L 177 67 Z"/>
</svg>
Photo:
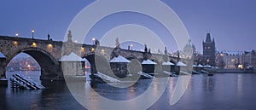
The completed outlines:
<svg viewBox="0 0 256 110">
<path fill-rule="evenodd" d="M 40 79 L 60 78 L 62 76 L 58 61 L 56 61 L 55 58 L 49 54 L 49 52 L 40 48 L 29 47 L 18 49 L 14 53 L 9 54 L 9 57 L 6 59 L 6 64 L 9 64 L 9 61 L 20 53 L 31 55 L 32 58 L 38 62 L 39 66 L 41 67 Z"/>
</svg>

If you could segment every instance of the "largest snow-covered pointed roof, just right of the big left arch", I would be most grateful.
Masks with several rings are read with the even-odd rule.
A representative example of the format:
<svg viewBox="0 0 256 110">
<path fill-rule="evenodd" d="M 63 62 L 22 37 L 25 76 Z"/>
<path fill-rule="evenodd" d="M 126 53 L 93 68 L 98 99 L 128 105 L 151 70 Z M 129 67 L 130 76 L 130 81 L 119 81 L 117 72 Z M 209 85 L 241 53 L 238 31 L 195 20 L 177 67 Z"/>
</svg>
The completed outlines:
<svg viewBox="0 0 256 110">
<path fill-rule="evenodd" d="M 85 59 L 71 52 L 70 55 L 63 55 L 59 61 L 85 61 Z"/>
</svg>

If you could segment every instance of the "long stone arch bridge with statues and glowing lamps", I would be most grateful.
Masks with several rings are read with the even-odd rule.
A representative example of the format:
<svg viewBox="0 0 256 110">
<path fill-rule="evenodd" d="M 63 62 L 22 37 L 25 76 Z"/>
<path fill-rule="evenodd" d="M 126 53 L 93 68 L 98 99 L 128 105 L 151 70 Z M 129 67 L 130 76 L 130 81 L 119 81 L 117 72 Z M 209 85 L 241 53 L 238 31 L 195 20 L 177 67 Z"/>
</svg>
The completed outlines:
<svg viewBox="0 0 256 110">
<path fill-rule="evenodd" d="M 150 59 L 157 63 L 155 72 L 160 72 L 163 61 L 177 62 L 177 57 L 171 57 L 165 52 L 164 55 L 151 54 L 145 51 L 137 51 L 131 49 L 120 49 L 100 46 L 99 44 L 82 44 L 75 43 L 72 40 L 71 32 L 67 35 L 67 41 L 53 41 L 51 39 L 34 39 L 34 38 L 17 38 L 0 36 L 0 52 L 5 58 L 0 58 L 1 67 L 0 75 L 5 78 L 6 67 L 16 55 L 26 53 L 31 55 L 41 67 L 40 79 L 63 79 L 63 71 L 61 67 L 61 56 L 69 55 L 71 52 L 85 58 L 90 62 L 91 72 L 98 72 L 102 68 L 96 67 L 96 62 L 101 65 L 109 65 L 109 61 L 113 56 L 121 55 L 131 61 L 133 67 L 142 65 L 143 60 Z M 99 61 L 97 61 L 99 60 Z M 136 70 L 132 68 L 132 70 Z M 76 73 L 73 73 L 76 75 Z"/>
</svg>

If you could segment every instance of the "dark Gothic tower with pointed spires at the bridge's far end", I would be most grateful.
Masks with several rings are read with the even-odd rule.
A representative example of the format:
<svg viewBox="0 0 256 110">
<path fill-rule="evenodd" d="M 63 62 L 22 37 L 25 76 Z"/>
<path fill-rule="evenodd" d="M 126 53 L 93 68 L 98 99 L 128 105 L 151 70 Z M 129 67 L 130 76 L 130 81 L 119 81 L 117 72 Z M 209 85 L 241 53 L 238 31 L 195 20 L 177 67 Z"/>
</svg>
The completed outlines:
<svg viewBox="0 0 256 110">
<path fill-rule="evenodd" d="M 211 35 L 207 32 L 206 42 L 203 42 L 203 56 L 206 64 L 215 66 L 215 41 L 211 39 Z"/>
</svg>

